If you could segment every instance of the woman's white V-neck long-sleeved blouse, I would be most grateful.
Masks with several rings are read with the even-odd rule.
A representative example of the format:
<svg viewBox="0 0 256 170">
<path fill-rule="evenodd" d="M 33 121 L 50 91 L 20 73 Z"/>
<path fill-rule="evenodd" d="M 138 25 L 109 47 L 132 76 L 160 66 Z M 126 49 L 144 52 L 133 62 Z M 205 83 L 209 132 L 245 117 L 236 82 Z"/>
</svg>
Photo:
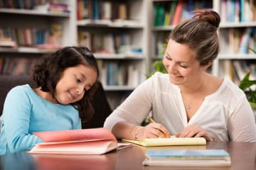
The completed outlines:
<svg viewBox="0 0 256 170">
<path fill-rule="evenodd" d="M 187 121 L 181 91 L 169 74 L 156 73 L 140 84 L 105 120 L 112 130 L 120 121 L 140 125 L 152 111 L 157 123 L 175 135 L 188 125 L 201 125 L 211 137 L 222 141 L 256 142 L 255 117 L 246 96 L 232 81 L 224 79 L 215 93 L 206 96 Z"/>
</svg>

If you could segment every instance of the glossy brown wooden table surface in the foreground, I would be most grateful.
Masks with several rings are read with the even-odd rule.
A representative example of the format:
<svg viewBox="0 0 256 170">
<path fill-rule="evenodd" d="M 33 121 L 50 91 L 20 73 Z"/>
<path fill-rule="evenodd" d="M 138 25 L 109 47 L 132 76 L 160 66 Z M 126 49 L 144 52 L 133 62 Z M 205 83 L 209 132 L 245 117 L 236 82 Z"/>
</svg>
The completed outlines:
<svg viewBox="0 0 256 170">
<path fill-rule="evenodd" d="M 137 170 L 137 169 L 195 169 L 192 167 L 143 166 L 144 152 L 149 147 L 134 145 L 127 149 L 110 152 L 103 155 L 63 155 L 63 154 L 26 154 L 19 152 L 0 157 L 1 170 L 12 169 L 94 169 L 94 170 Z M 152 148 L 152 147 L 150 147 Z M 161 147 L 170 149 L 191 149 L 187 147 Z M 204 167 L 196 169 L 256 169 L 256 142 L 207 142 L 206 146 L 194 146 L 193 149 L 225 149 L 231 156 L 229 167 Z"/>
</svg>

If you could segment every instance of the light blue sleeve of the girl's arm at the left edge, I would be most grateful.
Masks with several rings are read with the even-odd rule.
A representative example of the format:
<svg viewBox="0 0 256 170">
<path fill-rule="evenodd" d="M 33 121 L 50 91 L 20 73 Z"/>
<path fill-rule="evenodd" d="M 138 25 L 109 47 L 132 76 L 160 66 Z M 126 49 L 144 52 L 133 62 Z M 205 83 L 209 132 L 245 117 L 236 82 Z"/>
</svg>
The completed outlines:
<svg viewBox="0 0 256 170">
<path fill-rule="evenodd" d="M 35 135 L 29 134 L 31 99 L 21 88 L 9 91 L 4 103 L 4 130 L 6 142 L 11 152 L 28 151 L 39 142 Z"/>
</svg>

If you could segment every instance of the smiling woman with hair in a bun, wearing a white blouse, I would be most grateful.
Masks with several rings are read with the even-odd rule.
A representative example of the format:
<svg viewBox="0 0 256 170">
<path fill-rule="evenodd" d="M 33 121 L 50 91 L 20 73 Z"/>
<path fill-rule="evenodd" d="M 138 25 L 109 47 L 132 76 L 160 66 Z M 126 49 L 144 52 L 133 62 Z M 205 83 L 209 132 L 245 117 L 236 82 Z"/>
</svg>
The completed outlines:
<svg viewBox="0 0 256 170">
<path fill-rule="evenodd" d="M 164 55 L 168 74 L 156 73 L 135 89 L 105 121 L 117 138 L 205 137 L 256 142 L 245 94 L 228 79 L 208 74 L 219 52 L 220 16 L 198 12 L 171 31 Z M 152 112 L 156 123 L 140 126 Z"/>
</svg>

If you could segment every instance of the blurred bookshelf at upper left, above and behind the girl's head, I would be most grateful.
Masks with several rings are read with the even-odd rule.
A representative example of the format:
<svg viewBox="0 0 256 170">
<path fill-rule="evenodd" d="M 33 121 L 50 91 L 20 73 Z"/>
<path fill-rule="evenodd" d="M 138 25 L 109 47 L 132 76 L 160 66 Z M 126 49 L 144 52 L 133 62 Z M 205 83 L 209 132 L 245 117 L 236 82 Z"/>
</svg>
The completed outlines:
<svg viewBox="0 0 256 170">
<path fill-rule="evenodd" d="M 0 4 L 0 74 L 29 74 L 31 65 L 46 52 L 76 45 L 75 2 L 39 2 Z"/>
</svg>

